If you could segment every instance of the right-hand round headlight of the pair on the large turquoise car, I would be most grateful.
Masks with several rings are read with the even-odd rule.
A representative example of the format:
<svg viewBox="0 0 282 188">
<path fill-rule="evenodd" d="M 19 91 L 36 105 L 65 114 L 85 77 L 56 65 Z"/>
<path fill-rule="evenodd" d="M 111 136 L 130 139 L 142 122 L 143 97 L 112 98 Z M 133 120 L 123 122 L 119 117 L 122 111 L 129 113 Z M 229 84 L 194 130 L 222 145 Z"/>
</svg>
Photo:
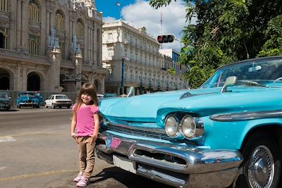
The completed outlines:
<svg viewBox="0 0 282 188">
<path fill-rule="evenodd" d="M 192 138 L 196 133 L 196 123 L 190 115 L 185 115 L 181 120 L 181 129 L 185 137 Z"/>
</svg>

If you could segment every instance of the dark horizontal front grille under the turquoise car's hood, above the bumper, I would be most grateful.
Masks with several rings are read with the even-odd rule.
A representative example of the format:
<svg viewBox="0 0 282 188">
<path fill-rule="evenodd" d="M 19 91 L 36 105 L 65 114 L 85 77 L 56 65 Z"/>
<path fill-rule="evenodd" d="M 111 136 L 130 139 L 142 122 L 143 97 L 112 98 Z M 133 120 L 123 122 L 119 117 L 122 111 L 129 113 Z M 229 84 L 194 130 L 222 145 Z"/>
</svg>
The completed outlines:
<svg viewBox="0 0 282 188">
<path fill-rule="evenodd" d="M 140 136 L 140 137 L 148 137 L 148 138 L 154 138 L 154 139 L 166 139 L 170 141 L 175 141 L 176 139 L 173 139 L 171 137 L 168 137 L 168 135 L 164 132 L 154 131 L 152 129 L 146 129 L 146 128 L 140 128 L 140 127 L 130 127 L 130 126 L 123 126 L 123 125 L 113 125 L 111 123 L 108 124 L 108 130 L 114 131 L 114 132 L 121 132 L 124 134 L 130 134 L 134 136 Z"/>
</svg>

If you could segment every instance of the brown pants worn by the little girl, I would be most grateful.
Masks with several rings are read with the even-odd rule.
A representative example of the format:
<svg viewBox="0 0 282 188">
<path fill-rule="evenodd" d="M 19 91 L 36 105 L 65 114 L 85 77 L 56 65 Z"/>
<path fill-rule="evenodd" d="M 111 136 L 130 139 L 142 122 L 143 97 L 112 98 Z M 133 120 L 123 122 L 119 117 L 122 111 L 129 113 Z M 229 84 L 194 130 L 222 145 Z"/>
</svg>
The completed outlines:
<svg viewBox="0 0 282 188">
<path fill-rule="evenodd" d="M 80 172 L 84 177 L 90 179 L 94 168 L 94 146 L 95 142 L 90 144 L 91 137 L 78 137 L 78 149 L 80 157 Z"/>
</svg>

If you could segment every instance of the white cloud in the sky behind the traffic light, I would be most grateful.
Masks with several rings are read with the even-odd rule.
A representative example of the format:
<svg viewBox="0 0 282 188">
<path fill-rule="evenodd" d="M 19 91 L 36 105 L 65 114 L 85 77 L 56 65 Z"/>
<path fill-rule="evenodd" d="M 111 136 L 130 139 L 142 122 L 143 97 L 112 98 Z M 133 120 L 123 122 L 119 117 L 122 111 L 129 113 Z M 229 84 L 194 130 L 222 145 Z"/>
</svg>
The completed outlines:
<svg viewBox="0 0 282 188">
<path fill-rule="evenodd" d="M 145 26 L 147 34 L 157 37 L 161 35 L 161 15 L 162 15 L 162 34 L 174 34 L 180 40 L 180 32 L 185 25 L 185 4 L 183 1 L 171 1 L 166 7 L 158 9 L 149 6 L 148 1 L 137 0 L 135 4 L 124 6 L 121 15 L 125 23 L 130 23 L 136 28 Z M 105 18 L 103 18 L 105 20 Z M 163 49 L 180 49 L 179 42 L 163 44 Z"/>
</svg>

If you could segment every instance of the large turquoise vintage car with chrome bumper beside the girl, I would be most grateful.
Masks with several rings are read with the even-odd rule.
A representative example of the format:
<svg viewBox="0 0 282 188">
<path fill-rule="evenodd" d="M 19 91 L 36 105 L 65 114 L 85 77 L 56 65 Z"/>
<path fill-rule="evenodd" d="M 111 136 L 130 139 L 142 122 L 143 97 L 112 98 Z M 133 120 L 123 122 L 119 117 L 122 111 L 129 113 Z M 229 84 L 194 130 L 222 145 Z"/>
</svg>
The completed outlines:
<svg viewBox="0 0 282 188">
<path fill-rule="evenodd" d="M 99 103 L 108 163 L 173 187 L 278 187 L 282 57 L 225 65 L 199 89 Z"/>
</svg>

